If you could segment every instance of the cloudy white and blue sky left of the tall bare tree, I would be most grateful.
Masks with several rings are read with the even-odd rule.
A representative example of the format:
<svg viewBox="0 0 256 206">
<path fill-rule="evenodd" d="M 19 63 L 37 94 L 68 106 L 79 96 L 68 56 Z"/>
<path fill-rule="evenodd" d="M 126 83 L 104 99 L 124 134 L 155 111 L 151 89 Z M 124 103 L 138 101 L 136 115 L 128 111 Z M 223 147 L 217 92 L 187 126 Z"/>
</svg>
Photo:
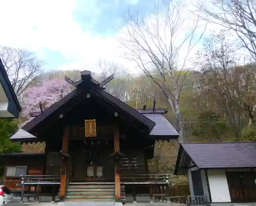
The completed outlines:
<svg viewBox="0 0 256 206">
<path fill-rule="evenodd" d="M 34 51 L 46 63 L 46 71 L 97 70 L 99 58 L 133 68 L 122 57 L 118 40 L 126 31 L 124 16 L 128 11 L 150 16 L 160 3 L 162 0 L 0 0 L 0 23 L 5 28 L 0 45 Z M 189 16 L 186 23 L 191 23 Z M 184 33 L 177 41 L 182 41 Z"/>
</svg>

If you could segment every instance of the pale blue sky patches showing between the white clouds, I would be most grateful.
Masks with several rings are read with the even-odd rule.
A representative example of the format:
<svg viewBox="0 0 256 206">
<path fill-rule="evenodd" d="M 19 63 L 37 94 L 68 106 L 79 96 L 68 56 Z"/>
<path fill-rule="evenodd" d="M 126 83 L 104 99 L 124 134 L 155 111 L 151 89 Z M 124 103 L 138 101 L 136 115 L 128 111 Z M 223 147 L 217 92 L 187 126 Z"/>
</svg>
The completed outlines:
<svg viewBox="0 0 256 206">
<path fill-rule="evenodd" d="M 83 32 L 88 32 L 95 36 L 109 37 L 118 33 L 118 30 L 126 23 L 127 12 L 138 12 L 138 14 L 150 14 L 155 3 L 159 0 L 97 0 L 84 1 L 76 0 L 73 11 L 73 19 L 77 22 Z M 71 63 L 58 50 L 43 48 L 41 50 L 45 69 L 58 68 L 60 64 Z"/>
</svg>

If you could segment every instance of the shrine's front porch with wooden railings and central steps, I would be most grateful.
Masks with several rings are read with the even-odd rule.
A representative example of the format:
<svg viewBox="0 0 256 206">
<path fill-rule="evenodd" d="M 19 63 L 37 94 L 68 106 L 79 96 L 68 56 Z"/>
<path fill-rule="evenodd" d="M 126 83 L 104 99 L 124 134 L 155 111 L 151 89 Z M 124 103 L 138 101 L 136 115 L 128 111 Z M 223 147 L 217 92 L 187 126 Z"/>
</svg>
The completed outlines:
<svg viewBox="0 0 256 206">
<path fill-rule="evenodd" d="M 144 176 L 144 177 L 143 177 Z M 132 179 L 130 178 L 132 177 Z M 151 174 L 151 175 L 130 175 L 129 178 L 121 176 L 121 201 L 125 203 L 127 198 L 129 201 L 137 202 L 141 198 L 148 198 L 149 201 L 169 201 L 168 200 L 168 175 L 167 174 Z M 146 181 L 143 181 L 146 179 Z M 60 185 L 60 176 L 50 175 L 24 175 L 20 179 L 22 190 L 20 191 L 21 199 L 28 200 L 34 197 L 39 201 L 41 196 L 52 195 L 52 201 L 55 201 L 57 194 L 56 188 Z M 102 187 L 102 185 L 104 187 Z M 51 186 L 51 187 L 49 187 Z M 57 186 L 57 187 L 56 187 Z M 48 188 L 48 192 L 47 189 Z M 113 188 L 113 190 L 112 190 Z M 32 190 L 31 190 L 32 189 Z M 51 189 L 51 190 L 49 190 Z M 104 191 L 106 190 L 106 191 Z M 100 182 L 83 182 L 83 183 L 68 183 L 66 191 L 66 201 L 88 201 L 92 200 L 94 191 L 98 193 L 97 201 L 115 201 L 115 182 L 100 183 Z M 111 192 L 113 191 L 113 192 Z M 104 194 L 103 194 L 104 193 Z M 108 199 L 110 195 L 112 199 Z M 73 195 L 73 196 L 72 196 Z M 75 195 L 75 197 L 74 197 Z M 88 197 L 89 195 L 89 197 Z M 106 195 L 106 196 L 105 196 Z M 95 196 L 96 197 L 96 196 Z M 89 198 L 89 199 L 88 199 Z"/>
</svg>

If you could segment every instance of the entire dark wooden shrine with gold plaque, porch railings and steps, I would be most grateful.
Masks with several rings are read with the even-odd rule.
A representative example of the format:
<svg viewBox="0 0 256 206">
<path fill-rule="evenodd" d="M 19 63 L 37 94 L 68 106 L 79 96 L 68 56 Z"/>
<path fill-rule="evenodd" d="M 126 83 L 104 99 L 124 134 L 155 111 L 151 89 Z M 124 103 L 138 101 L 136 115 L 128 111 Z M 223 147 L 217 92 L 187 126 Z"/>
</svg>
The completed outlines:
<svg viewBox="0 0 256 206">
<path fill-rule="evenodd" d="M 166 110 L 135 110 L 105 92 L 112 79 L 98 83 L 90 71 L 82 71 L 78 82 L 66 78 L 75 90 L 37 112 L 19 130 L 22 136 L 11 137 L 46 143 L 45 154 L 35 155 L 38 161 L 24 153 L 5 155 L 6 161 L 13 157 L 6 163 L 5 184 L 23 175 L 15 186 L 22 199 L 34 195 L 39 200 L 39 193 L 54 198 L 59 189 L 60 201 L 125 202 L 129 194 L 136 201 L 139 191 L 167 201 L 168 175 L 149 174 L 147 160 L 154 156 L 156 140 L 177 140 L 179 134 L 163 116 Z"/>
</svg>

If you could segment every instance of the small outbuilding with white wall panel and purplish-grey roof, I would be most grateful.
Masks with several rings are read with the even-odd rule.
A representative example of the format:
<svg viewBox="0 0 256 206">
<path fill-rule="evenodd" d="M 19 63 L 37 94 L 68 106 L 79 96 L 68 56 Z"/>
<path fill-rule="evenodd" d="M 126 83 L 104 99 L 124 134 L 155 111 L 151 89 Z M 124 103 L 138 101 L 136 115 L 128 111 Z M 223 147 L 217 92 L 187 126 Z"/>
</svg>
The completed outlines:
<svg viewBox="0 0 256 206">
<path fill-rule="evenodd" d="M 181 143 L 175 174 L 188 175 L 190 202 L 256 202 L 256 142 Z"/>
</svg>

